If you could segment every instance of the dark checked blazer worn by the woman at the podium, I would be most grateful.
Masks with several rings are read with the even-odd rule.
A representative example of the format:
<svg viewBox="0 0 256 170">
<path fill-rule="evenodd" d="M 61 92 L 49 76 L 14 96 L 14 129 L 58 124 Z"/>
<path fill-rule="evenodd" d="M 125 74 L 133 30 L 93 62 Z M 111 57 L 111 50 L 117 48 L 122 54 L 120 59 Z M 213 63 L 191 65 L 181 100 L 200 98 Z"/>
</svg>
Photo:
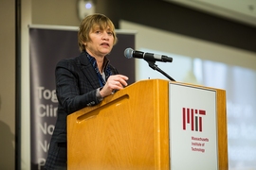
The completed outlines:
<svg viewBox="0 0 256 170">
<path fill-rule="evenodd" d="M 118 71 L 108 65 L 111 75 L 117 75 Z M 55 76 L 58 117 L 48 150 L 46 169 L 57 169 L 57 166 L 64 164 L 66 166 L 66 116 L 101 102 L 96 96 L 97 89 L 101 87 L 99 77 L 85 52 L 79 57 L 59 61 Z"/>
</svg>

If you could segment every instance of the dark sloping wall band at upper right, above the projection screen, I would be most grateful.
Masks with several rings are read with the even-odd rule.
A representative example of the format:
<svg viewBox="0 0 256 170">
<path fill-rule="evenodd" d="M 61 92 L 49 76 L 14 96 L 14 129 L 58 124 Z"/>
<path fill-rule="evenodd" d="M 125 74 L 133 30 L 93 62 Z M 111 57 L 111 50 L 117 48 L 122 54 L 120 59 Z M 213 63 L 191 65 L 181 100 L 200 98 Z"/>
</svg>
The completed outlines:
<svg viewBox="0 0 256 170">
<path fill-rule="evenodd" d="M 256 27 L 203 11 L 159 0 L 98 0 L 96 6 L 118 27 L 122 19 L 256 52 Z"/>
</svg>

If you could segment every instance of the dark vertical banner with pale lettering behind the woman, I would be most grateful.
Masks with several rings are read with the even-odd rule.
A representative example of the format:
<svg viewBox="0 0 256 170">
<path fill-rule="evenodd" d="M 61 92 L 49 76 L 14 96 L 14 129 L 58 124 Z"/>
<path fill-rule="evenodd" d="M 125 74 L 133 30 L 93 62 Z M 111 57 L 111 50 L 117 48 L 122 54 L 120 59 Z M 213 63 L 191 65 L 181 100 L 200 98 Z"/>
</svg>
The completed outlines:
<svg viewBox="0 0 256 170">
<path fill-rule="evenodd" d="M 135 34 L 118 31 L 119 42 L 107 56 L 119 73 L 135 82 L 135 60 L 123 55 L 127 47 L 135 48 Z M 60 59 L 80 54 L 77 30 L 29 28 L 30 66 L 30 154 L 31 170 L 43 169 L 51 135 L 57 118 L 55 65 Z"/>
</svg>

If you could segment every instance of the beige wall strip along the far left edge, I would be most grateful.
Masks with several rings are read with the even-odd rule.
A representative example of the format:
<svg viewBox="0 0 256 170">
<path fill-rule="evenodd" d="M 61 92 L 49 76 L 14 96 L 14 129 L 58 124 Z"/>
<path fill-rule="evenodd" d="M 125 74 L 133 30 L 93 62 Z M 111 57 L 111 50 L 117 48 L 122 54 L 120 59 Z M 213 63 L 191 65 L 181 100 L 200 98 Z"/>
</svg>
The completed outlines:
<svg viewBox="0 0 256 170">
<path fill-rule="evenodd" d="M 15 6 L 0 1 L 0 169 L 14 169 Z"/>
</svg>

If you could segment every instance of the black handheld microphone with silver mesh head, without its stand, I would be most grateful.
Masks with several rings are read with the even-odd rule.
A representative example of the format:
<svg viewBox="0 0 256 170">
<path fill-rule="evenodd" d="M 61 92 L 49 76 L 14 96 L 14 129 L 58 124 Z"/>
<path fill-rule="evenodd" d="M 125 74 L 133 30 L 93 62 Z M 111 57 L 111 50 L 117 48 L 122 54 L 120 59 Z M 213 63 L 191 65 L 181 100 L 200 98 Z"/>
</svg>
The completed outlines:
<svg viewBox="0 0 256 170">
<path fill-rule="evenodd" d="M 124 56 L 128 59 L 131 58 L 138 58 L 138 59 L 145 59 L 147 61 L 162 61 L 162 62 L 173 62 L 173 58 L 157 55 L 153 53 L 144 53 L 141 51 L 135 51 L 132 48 L 126 48 L 124 50 Z"/>
</svg>

